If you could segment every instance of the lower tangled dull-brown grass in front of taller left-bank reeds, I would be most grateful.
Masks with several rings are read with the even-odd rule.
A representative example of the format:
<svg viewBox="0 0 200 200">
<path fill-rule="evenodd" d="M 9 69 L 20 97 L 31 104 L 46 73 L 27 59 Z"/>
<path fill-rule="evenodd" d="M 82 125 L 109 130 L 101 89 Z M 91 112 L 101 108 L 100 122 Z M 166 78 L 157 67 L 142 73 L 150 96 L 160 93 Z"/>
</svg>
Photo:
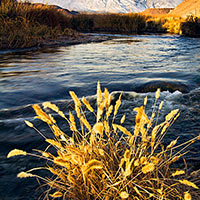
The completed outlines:
<svg viewBox="0 0 200 200">
<path fill-rule="evenodd" d="M 40 46 L 45 41 L 60 36 L 76 37 L 71 29 L 49 27 L 32 23 L 26 18 L 16 17 L 14 20 L 0 16 L 0 49 L 16 49 Z"/>
</svg>

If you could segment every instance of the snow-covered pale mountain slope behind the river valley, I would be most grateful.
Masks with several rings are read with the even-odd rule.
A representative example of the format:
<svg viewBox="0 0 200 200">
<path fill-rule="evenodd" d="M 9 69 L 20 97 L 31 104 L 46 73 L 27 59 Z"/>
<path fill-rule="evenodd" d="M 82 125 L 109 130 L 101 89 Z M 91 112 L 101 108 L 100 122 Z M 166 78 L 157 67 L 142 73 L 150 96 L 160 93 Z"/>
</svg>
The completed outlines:
<svg viewBox="0 0 200 200">
<path fill-rule="evenodd" d="M 128 13 L 147 8 L 175 8 L 183 0 L 30 0 L 82 12 Z"/>
</svg>

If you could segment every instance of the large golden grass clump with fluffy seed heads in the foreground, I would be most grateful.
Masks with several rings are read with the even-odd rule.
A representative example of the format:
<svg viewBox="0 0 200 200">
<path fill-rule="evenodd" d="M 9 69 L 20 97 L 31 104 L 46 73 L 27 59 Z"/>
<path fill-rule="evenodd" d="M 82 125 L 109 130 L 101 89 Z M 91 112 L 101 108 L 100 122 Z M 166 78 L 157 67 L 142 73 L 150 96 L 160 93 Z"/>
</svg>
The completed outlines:
<svg viewBox="0 0 200 200">
<path fill-rule="evenodd" d="M 38 132 L 49 146 L 54 147 L 55 152 L 50 153 L 47 148 L 38 151 L 38 155 L 15 149 L 8 154 L 8 157 L 32 155 L 44 158 L 48 161 L 45 169 L 52 176 L 43 178 L 32 174 L 36 168 L 19 173 L 19 178 L 42 179 L 49 187 L 45 199 L 192 199 L 193 193 L 199 188 L 187 180 L 185 171 L 175 168 L 174 163 L 200 137 L 178 145 L 177 138 L 163 145 L 163 138 L 179 116 L 179 110 L 172 110 L 164 122 L 157 123 L 163 106 L 163 102 L 158 103 L 159 89 L 151 116 L 145 114 L 147 97 L 144 105 L 134 108 L 134 131 L 123 126 L 125 115 L 121 119 L 116 118 L 122 95 L 112 105 L 111 94 L 107 89 L 102 93 L 98 83 L 96 109 L 84 97 L 80 100 L 74 92 L 70 92 L 70 95 L 75 111 L 69 112 L 68 117 L 50 102 L 45 102 L 43 108 L 51 109 L 64 118 L 72 136 L 57 126 L 52 115 L 45 113 L 39 105 L 33 105 L 36 118 L 49 125 L 54 138 L 46 138 Z M 87 119 L 90 112 L 95 118 L 94 124 Z M 37 130 L 31 122 L 25 123 Z"/>
</svg>

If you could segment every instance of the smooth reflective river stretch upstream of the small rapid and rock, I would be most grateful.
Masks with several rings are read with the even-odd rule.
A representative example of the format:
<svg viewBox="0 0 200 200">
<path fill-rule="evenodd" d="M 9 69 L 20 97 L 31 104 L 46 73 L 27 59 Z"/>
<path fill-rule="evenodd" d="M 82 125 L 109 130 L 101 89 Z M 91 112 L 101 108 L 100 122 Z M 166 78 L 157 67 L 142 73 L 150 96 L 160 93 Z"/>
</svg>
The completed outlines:
<svg viewBox="0 0 200 200">
<path fill-rule="evenodd" d="M 178 82 L 191 90 L 199 86 L 199 50 L 198 39 L 119 35 L 102 43 L 1 52 L 0 95 L 4 97 L 0 107 L 11 106 L 7 104 L 11 93 L 22 95 L 24 103 L 68 98 L 66 94 L 72 89 L 79 96 L 91 95 L 97 80 L 106 87 L 117 81 L 118 86 L 108 89 L 119 87 L 125 91 L 130 88 L 138 91 L 144 84 L 155 81 Z M 129 87 L 123 88 L 125 85 Z M 19 101 L 12 104 L 20 105 Z"/>
</svg>

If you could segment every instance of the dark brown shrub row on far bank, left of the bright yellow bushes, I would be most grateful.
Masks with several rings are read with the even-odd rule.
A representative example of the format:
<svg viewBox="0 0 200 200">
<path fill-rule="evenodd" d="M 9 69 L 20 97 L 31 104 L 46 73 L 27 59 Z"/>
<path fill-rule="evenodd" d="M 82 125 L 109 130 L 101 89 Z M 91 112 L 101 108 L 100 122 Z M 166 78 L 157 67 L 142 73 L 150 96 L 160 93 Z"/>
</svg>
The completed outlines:
<svg viewBox="0 0 200 200">
<path fill-rule="evenodd" d="M 81 32 L 142 33 L 145 16 L 138 14 L 79 14 L 71 19 L 73 29 Z"/>
</svg>

